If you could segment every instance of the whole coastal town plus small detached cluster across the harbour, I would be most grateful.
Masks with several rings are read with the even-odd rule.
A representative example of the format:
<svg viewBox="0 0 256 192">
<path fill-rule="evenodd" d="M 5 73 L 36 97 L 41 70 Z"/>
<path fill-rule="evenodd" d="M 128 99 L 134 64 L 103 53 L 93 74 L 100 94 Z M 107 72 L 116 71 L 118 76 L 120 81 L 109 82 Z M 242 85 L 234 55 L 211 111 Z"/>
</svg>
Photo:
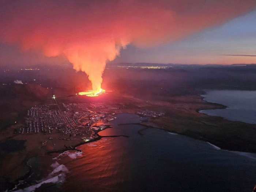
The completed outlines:
<svg viewBox="0 0 256 192">
<path fill-rule="evenodd" d="M 24 135 L 25 138 L 37 135 L 35 138 L 41 138 L 42 146 L 63 143 L 64 146 L 72 147 L 74 142 L 85 143 L 99 139 L 97 133 L 109 128 L 109 122 L 117 118 L 117 113 L 122 113 L 122 109 L 115 105 L 74 101 L 64 103 L 58 102 L 53 95 L 48 104 L 27 110 L 24 124 L 17 127 L 14 133 Z M 150 110 L 141 110 L 136 114 L 148 118 L 163 115 Z"/>
</svg>

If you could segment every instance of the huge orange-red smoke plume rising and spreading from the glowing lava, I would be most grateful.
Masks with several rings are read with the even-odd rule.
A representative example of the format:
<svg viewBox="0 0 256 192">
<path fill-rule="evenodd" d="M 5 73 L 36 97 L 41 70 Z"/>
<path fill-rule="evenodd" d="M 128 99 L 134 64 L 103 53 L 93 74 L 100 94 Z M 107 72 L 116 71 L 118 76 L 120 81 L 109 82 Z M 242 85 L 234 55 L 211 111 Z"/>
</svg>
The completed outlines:
<svg viewBox="0 0 256 192">
<path fill-rule="evenodd" d="M 0 0 L 0 40 L 64 56 L 99 90 L 106 62 L 128 44 L 157 46 L 220 25 L 255 0 Z"/>
</svg>

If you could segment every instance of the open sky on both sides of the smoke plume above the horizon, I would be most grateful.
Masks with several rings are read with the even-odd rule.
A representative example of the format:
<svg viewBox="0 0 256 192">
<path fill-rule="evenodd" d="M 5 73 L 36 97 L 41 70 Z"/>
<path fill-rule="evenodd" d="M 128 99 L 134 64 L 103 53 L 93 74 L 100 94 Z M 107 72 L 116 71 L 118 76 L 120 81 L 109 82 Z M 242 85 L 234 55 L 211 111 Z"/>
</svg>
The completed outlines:
<svg viewBox="0 0 256 192">
<path fill-rule="evenodd" d="M 234 9 L 233 11 L 237 10 Z M 179 9 L 175 11 L 177 11 L 176 14 L 179 14 Z M 225 11 L 225 9 L 220 11 Z M 182 14 L 184 13 L 182 12 Z M 0 25 L 4 29 L 4 23 L 0 23 Z M 159 42 L 161 43 L 159 44 L 154 43 L 153 45 L 144 46 L 140 45 L 137 39 L 135 39 L 135 42 L 131 40 L 131 42 L 124 46 L 122 45 L 123 47 L 120 50 L 118 49 L 120 54 L 117 53 L 115 55 L 117 56 L 116 59 L 111 62 L 180 64 L 256 63 L 256 10 L 245 11 L 241 15 L 227 18 L 225 22 L 217 22 L 214 25 L 199 28 L 171 40 L 169 38 L 160 38 Z M 167 28 L 166 30 L 169 29 Z M 173 31 L 170 31 L 170 33 L 173 33 Z M 176 34 L 174 33 L 174 35 Z M 138 37 L 136 36 L 136 38 Z M 154 38 L 154 35 L 148 38 Z M 157 41 L 158 39 L 154 40 L 154 42 Z M 70 59 L 67 56 L 63 56 L 63 54 L 57 54 L 57 56 L 50 55 L 53 57 L 48 56 L 45 56 L 41 50 L 24 50 L 19 40 L 11 42 L 11 44 L 8 41 L 0 41 L 1 65 L 67 64 L 70 62 Z M 78 68 L 79 70 L 80 68 Z"/>
</svg>

